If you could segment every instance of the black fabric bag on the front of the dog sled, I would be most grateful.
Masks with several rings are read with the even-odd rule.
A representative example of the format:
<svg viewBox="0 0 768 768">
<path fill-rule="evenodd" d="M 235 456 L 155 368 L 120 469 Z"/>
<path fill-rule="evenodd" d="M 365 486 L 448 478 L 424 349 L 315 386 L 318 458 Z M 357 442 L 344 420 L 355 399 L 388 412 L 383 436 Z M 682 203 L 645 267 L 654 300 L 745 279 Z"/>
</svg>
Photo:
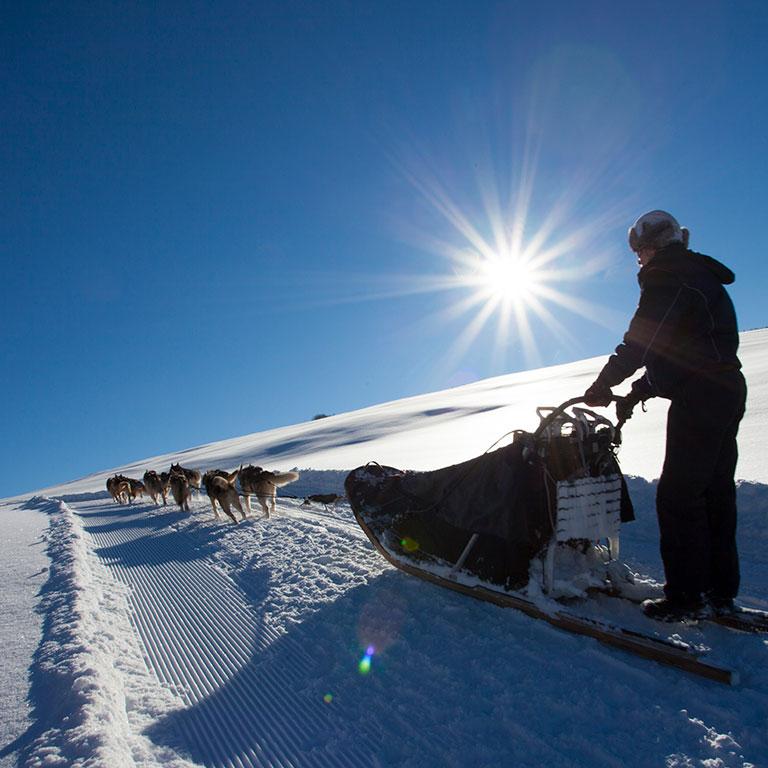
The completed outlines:
<svg viewBox="0 0 768 768">
<path fill-rule="evenodd" d="M 416 567 L 457 562 L 480 579 L 517 589 L 556 525 L 556 481 L 572 469 L 572 441 L 550 442 L 545 458 L 527 434 L 461 464 L 404 472 L 371 463 L 350 472 L 347 498 L 374 543 Z M 611 457 L 611 474 L 621 475 Z M 623 477 L 621 520 L 634 519 Z"/>
</svg>

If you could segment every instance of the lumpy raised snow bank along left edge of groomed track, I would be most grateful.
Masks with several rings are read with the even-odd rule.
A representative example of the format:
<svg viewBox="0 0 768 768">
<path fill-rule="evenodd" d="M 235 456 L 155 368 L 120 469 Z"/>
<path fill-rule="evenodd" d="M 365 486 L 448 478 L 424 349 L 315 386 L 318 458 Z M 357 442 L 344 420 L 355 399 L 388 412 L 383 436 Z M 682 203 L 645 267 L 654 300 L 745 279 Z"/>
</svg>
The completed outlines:
<svg viewBox="0 0 768 768">
<path fill-rule="evenodd" d="M 141 702 L 126 680 L 147 678 L 127 625 L 125 590 L 89 552 L 77 516 L 64 502 L 35 497 L 30 504 L 51 516 L 47 554 L 51 559 L 40 612 L 43 640 L 32 667 L 31 698 L 40 714 L 38 732 L 26 751 L 29 766 L 190 765 L 170 750 L 136 736 L 134 710 L 151 721 L 150 701 Z M 155 686 L 147 681 L 147 690 Z M 151 697 L 162 693 L 153 692 Z M 54 702 L 53 704 L 51 702 Z M 139 706 L 143 704 L 143 706 Z M 159 702 L 167 709 L 168 702 Z"/>
</svg>

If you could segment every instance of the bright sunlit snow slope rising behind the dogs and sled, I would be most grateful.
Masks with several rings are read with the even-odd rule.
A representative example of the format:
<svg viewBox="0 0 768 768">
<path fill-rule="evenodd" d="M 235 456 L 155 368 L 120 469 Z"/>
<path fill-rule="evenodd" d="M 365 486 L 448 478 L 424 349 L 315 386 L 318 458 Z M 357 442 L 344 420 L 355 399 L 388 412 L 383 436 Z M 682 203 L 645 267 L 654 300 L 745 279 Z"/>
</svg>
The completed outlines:
<svg viewBox="0 0 768 768">
<path fill-rule="evenodd" d="M 768 483 L 763 460 L 768 421 L 768 329 L 741 334 L 739 354 L 749 386 L 736 476 Z M 44 489 L 51 495 L 104 490 L 116 471 L 138 477 L 148 468 L 261 466 L 351 469 L 375 457 L 380 463 L 434 469 L 477 456 L 513 429 L 533 429 L 538 406 L 558 405 L 584 392 L 605 363 L 595 357 L 485 379 L 474 384 L 363 408 L 318 421 L 154 456 Z M 617 387 L 621 394 L 629 382 Z M 627 423 L 621 462 L 626 474 L 658 477 L 664 458 L 667 401 L 648 401 L 648 412 Z"/>
</svg>

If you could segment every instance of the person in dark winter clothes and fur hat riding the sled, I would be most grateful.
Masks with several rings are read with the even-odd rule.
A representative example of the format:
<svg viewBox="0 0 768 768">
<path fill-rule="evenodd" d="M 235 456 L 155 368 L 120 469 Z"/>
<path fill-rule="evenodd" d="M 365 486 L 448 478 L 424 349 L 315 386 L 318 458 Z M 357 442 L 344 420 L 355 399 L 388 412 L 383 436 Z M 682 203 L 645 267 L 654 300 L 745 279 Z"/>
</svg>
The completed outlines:
<svg viewBox="0 0 768 768">
<path fill-rule="evenodd" d="M 689 250 L 688 230 L 665 211 L 641 216 L 629 245 L 641 266 L 640 302 L 584 401 L 608 405 L 611 387 L 642 367 L 617 402 L 619 419 L 650 397 L 670 400 L 656 492 L 665 597 L 643 609 L 667 621 L 700 615 L 707 604 L 728 612 L 739 588 L 734 473 L 747 391 L 736 313 L 723 287 L 734 274 Z"/>
</svg>

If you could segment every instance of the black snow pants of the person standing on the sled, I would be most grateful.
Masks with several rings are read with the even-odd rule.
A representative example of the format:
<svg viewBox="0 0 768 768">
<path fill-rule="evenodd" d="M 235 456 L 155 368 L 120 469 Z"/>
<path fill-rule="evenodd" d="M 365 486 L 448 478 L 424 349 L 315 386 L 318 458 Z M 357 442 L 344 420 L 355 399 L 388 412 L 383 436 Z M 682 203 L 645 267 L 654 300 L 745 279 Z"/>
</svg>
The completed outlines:
<svg viewBox="0 0 768 768">
<path fill-rule="evenodd" d="M 661 559 L 671 600 L 735 597 L 736 434 L 747 387 L 741 371 L 694 376 L 672 398 L 656 492 Z"/>
</svg>

